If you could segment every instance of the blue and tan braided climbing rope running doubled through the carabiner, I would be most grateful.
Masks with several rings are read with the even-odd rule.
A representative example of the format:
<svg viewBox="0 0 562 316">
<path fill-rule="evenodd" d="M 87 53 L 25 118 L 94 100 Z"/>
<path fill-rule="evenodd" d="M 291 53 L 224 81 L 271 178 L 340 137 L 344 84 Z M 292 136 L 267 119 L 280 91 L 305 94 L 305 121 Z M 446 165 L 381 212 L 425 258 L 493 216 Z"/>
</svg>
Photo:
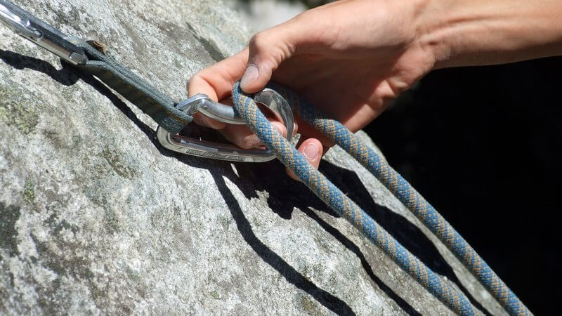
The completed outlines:
<svg viewBox="0 0 562 316">
<path fill-rule="evenodd" d="M 334 143 L 346 150 L 373 173 L 400 202 L 407 206 L 407 209 L 412 211 L 433 234 L 447 245 L 453 254 L 459 258 L 459 261 L 464 263 L 466 268 L 495 296 L 510 315 L 532 315 L 507 285 L 490 269 L 488 264 L 476 254 L 476 251 L 447 223 L 443 216 L 440 216 L 436 209 L 421 197 L 410 183 L 407 183 L 400 174 L 380 159 L 370 147 L 362 143 L 339 121 L 328 119 L 287 88 L 277 84 L 270 84 L 270 88 L 280 93 L 292 105 L 295 114 L 301 119 L 331 138 Z M 271 128 L 268 119 L 259 111 L 254 100 L 240 89 L 239 83 L 233 87 L 233 100 L 235 112 L 246 121 L 249 128 L 256 133 L 263 143 L 275 152 L 277 158 L 289 169 L 292 169 L 315 195 L 361 230 L 373 244 L 383 249 L 405 272 L 417 279 L 421 285 L 449 308 L 462 315 L 480 313 L 471 305 L 464 294 L 450 287 L 435 272 L 410 254 L 410 251 L 407 251 L 384 228 L 381 228 L 355 202 L 348 199 L 322 173 L 308 164 L 300 152 L 292 147 L 275 129 Z"/>
</svg>

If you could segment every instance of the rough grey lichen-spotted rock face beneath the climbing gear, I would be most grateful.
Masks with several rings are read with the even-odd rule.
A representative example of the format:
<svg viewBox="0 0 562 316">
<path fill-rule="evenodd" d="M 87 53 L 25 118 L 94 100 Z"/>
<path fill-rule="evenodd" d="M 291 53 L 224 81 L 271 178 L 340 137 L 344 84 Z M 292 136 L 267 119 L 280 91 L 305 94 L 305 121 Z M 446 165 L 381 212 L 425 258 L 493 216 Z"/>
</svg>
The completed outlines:
<svg viewBox="0 0 562 316">
<path fill-rule="evenodd" d="M 18 4 L 99 39 L 178 100 L 191 74 L 249 38 L 214 0 Z M 0 25 L 1 315 L 451 313 L 280 163 L 174 154 L 156 127 Z M 436 272 L 502 313 L 339 148 L 321 169 Z"/>
</svg>

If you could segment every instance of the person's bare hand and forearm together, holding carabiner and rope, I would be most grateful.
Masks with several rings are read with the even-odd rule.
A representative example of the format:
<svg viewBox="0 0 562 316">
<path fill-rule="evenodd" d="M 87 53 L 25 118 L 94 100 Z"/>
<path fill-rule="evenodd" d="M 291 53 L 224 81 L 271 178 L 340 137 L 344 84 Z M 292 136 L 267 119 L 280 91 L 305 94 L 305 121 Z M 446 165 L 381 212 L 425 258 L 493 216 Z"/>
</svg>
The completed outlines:
<svg viewBox="0 0 562 316">
<path fill-rule="evenodd" d="M 240 78 L 247 93 L 273 80 L 355 132 L 436 68 L 562 54 L 560 18 L 562 0 L 336 1 L 255 34 L 240 53 L 195 74 L 188 92 L 223 100 Z M 246 126 L 202 115 L 195 122 L 240 147 L 261 145 Z M 298 150 L 318 167 L 333 144 L 298 117 L 296 128 Z"/>
</svg>

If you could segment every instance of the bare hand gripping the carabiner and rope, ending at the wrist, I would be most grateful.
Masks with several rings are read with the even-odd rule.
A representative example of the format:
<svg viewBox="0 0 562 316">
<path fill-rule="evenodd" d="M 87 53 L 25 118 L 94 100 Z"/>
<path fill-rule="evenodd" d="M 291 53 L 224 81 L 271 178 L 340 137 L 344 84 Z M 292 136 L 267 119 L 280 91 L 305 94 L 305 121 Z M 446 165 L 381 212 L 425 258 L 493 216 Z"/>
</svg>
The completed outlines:
<svg viewBox="0 0 562 316">
<path fill-rule="evenodd" d="M 306 11 L 259 32 L 240 53 L 195 74 L 189 95 L 205 93 L 222 100 L 242 76 L 241 88 L 247 93 L 273 80 L 358 131 L 432 69 L 433 55 L 417 39 L 417 14 L 412 3 L 386 0 L 338 1 Z M 240 147 L 261 144 L 247 126 L 202 115 L 195 122 L 220 130 Z M 286 133 L 280 122 L 273 124 Z M 296 128 L 301 133 L 299 151 L 318 167 L 333 144 L 298 117 Z"/>
</svg>

